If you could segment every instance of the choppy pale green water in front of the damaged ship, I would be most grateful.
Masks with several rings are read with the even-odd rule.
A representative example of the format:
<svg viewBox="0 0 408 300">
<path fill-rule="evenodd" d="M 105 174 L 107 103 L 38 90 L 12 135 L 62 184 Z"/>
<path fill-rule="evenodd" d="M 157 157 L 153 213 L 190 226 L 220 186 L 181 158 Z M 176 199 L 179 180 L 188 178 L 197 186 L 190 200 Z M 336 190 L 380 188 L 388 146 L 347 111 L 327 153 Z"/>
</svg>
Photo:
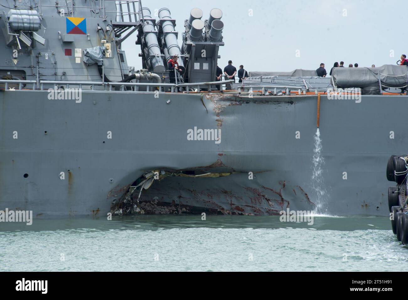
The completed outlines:
<svg viewBox="0 0 408 300">
<path fill-rule="evenodd" d="M 34 219 L 0 223 L 0 271 L 408 271 L 390 228 L 361 216 Z"/>
</svg>

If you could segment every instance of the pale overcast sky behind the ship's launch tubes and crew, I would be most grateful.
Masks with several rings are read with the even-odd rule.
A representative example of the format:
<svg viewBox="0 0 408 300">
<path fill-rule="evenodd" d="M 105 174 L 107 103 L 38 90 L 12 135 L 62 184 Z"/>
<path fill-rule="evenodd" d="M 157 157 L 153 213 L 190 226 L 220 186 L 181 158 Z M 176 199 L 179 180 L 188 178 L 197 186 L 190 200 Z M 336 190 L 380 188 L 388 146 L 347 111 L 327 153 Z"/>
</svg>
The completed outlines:
<svg viewBox="0 0 408 300">
<path fill-rule="evenodd" d="M 381 66 L 395 64 L 401 54 L 408 55 L 407 5 L 403 1 L 142 0 L 142 4 L 152 17 L 155 9 L 170 9 L 180 46 L 184 20 L 192 8 L 202 9 L 203 21 L 212 8 L 221 9 L 225 46 L 220 47 L 218 64 L 222 68 L 232 60 L 237 68 L 243 64 L 248 71 L 315 70 L 321 62 L 330 70 L 341 60 L 345 66 Z M 135 40 L 133 33 L 122 49 L 129 66 L 140 69 L 141 50 Z"/>
</svg>

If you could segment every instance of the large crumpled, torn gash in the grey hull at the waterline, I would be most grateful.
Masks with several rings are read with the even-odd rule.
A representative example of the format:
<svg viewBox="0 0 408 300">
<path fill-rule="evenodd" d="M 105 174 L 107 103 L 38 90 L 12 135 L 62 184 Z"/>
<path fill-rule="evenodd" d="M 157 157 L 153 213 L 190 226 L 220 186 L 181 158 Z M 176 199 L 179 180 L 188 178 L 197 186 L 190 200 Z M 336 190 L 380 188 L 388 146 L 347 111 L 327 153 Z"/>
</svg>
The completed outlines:
<svg viewBox="0 0 408 300">
<path fill-rule="evenodd" d="M 215 172 L 217 170 L 217 172 Z M 226 172 L 227 171 L 227 172 Z M 232 172 L 226 168 L 152 170 L 113 201 L 114 215 L 237 214 L 279 215 L 289 207 L 314 210 L 295 183 L 275 180 L 274 172 Z M 256 177 L 256 178 L 255 178 Z"/>
</svg>

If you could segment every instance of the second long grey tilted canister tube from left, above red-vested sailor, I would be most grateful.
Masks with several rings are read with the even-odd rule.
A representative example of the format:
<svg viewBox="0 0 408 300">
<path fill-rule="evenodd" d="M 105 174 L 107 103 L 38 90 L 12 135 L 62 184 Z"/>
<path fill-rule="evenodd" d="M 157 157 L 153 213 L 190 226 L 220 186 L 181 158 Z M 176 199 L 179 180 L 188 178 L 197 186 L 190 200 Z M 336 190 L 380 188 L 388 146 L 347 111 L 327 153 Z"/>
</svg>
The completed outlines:
<svg viewBox="0 0 408 300">
<path fill-rule="evenodd" d="M 180 46 L 177 42 L 177 32 L 175 31 L 174 24 L 171 21 L 170 10 L 162 8 L 159 10 L 160 28 L 162 32 L 162 48 L 166 63 L 169 62 L 173 55 L 181 56 Z M 164 44 L 163 44 L 164 42 Z M 180 58 L 178 63 L 183 65 L 183 60 Z"/>
</svg>

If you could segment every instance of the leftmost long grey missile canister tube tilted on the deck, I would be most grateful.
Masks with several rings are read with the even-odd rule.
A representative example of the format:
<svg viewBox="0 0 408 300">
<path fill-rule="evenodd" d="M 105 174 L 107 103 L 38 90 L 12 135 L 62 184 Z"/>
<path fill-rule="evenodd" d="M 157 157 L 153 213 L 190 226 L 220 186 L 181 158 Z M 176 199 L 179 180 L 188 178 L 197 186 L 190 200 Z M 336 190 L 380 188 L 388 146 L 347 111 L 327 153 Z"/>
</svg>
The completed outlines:
<svg viewBox="0 0 408 300">
<path fill-rule="evenodd" d="M 144 45 L 143 54 L 146 60 L 146 65 L 149 70 L 153 70 L 154 72 L 165 71 L 162 53 L 160 51 L 159 43 L 157 41 L 157 35 L 155 31 L 154 24 L 151 20 L 151 13 L 150 9 L 147 7 L 142 8 L 142 13 L 144 16 L 144 24 L 143 24 L 143 37 L 142 45 Z"/>
</svg>

